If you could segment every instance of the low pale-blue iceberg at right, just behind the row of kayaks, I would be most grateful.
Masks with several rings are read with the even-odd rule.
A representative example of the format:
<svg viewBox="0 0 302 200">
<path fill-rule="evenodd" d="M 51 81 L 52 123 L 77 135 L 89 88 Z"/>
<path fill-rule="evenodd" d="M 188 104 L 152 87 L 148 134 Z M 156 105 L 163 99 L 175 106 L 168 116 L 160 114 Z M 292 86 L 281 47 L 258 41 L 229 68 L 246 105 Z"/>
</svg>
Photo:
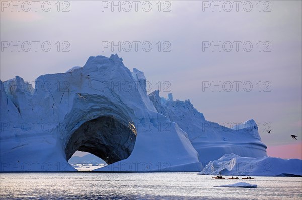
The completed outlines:
<svg viewBox="0 0 302 200">
<path fill-rule="evenodd" d="M 209 162 L 199 173 L 229 176 L 302 176 L 302 160 L 274 157 L 249 158 L 226 154 Z"/>
</svg>

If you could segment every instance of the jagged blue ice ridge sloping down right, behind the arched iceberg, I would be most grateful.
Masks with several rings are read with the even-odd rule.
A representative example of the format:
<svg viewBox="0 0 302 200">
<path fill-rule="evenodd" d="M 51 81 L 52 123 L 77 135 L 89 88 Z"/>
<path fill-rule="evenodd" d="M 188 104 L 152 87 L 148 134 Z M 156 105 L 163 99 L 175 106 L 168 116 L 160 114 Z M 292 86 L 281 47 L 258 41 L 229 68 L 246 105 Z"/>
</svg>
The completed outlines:
<svg viewBox="0 0 302 200">
<path fill-rule="evenodd" d="M 207 121 L 190 100 L 174 101 L 172 94 L 168 99 L 160 98 L 158 90 L 150 93 L 149 98 L 158 113 L 177 123 L 188 134 L 203 166 L 230 153 L 243 157 L 267 156 L 267 147 L 261 142 L 258 126 L 253 119 L 228 128 Z"/>
</svg>

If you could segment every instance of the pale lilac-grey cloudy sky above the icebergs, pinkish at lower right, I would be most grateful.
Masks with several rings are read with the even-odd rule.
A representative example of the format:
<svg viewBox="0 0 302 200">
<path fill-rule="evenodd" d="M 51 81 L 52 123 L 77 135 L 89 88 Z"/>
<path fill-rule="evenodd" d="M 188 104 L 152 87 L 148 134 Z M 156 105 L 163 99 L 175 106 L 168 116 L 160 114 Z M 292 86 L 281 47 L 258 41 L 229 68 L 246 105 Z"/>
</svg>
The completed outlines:
<svg viewBox="0 0 302 200">
<path fill-rule="evenodd" d="M 48 12 L 43 2 L 37 11 L 33 4 L 29 10 L 20 3 L 18 11 L 4 2 L 10 1 L 1 1 L 2 81 L 19 75 L 34 82 L 41 74 L 83 66 L 89 56 L 117 53 L 130 70 L 145 73 L 152 85 L 148 92 L 160 89 L 163 97 L 172 92 L 174 99 L 190 99 L 207 120 L 222 125 L 254 119 L 268 155 L 302 159 L 301 1 L 241 1 L 238 11 L 233 1 L 216 1 L 221 11 L 212 1 L 140 1 L 137 12 L 132 1 L 131 9 L 116 1 L 120 11 L 111 1 L 61 1 L 59 8 L 50 1 Z M 31 49 L 24 51 L 27 43 L 20 52 L 5 46 L 18 41 L 28 41 Z M 40 42 L 37 51 L 33 41 Z M 119 41 L 120 51 L 104 47 Z M 205 46 L 219 41 L 221 52 Z M 50 51 L 42 50 L 43 42 L 51 44 Z M 143 42 L 152 49 L 145 51 Z"/>
</svg>

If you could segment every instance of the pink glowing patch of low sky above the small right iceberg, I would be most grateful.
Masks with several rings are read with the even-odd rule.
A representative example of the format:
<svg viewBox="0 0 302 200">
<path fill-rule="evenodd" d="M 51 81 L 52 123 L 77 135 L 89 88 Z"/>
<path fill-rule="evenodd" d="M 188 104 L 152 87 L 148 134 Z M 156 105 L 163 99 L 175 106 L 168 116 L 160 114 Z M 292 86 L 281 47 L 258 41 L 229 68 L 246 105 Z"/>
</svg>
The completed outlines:
<svg viewBox="0 0 302 200">
<path fill-rule="evenodd" d="M 302 144 L 295 143 L 289 145 L 268 146 L 267 155 L 280 158 L 302 159 Z"/>
</svg>

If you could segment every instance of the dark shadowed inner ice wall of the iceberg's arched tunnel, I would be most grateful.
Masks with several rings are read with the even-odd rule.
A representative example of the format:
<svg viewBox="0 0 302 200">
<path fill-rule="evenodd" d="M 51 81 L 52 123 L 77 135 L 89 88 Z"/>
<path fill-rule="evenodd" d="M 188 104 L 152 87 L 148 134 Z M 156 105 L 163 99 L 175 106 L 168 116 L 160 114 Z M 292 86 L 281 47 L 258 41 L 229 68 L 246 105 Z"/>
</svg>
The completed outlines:
<svg viewBox="0 0 302 200">
<path fill-rule="evenodd" d="M 85 151 L 112 164 L 128 158 L 136 141 L 136 129 L 113 116 L 101 116 L 83 123 L 71 135 L 66 148 L 69 160 L 75 151 Z"/>
</svg>

